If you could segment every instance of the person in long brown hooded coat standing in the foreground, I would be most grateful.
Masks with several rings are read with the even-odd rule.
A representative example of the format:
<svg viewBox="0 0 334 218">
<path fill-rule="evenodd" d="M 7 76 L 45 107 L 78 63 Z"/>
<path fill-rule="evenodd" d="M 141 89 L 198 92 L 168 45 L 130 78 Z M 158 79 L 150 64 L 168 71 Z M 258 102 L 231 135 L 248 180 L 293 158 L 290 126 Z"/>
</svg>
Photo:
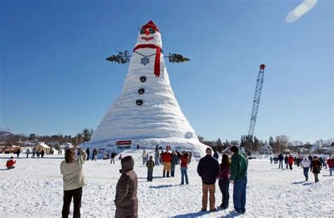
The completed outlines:
<svg viewBox="0 0 334 218">
<path fill-rule="evenodd" d="M 120 179 L 116 186 L 116 205 L 115 218 L 138 217 L 137 200 L 137 174 L 133 170 L 135 161 L 131 156 L 126 156 L 120 161 Z"/>
</svg>

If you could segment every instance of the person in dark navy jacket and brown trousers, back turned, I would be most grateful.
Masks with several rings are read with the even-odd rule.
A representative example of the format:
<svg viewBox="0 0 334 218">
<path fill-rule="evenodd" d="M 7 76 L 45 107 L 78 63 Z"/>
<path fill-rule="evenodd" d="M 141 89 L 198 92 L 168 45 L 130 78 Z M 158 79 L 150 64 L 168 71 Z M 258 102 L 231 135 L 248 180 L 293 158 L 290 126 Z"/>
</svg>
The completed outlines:
<svg viewBox="0 0 334 218">
<path fill-rule="evenodd" d="M 204 158 L 199 160 L 197 165 L 197 173 L 199 177 L 202 178 L 202 211 L 206 211 L 206 206 L 208 204 L 208 191 L 210 193 L 210 212 L 216 211 L 215 197 L 214 193 L 216 190 L 216 177 L 220 172 L 218 161 L 215 160 L 212 155 L 211 148 L 206 148 L 206 155 Z"/>
</svg>

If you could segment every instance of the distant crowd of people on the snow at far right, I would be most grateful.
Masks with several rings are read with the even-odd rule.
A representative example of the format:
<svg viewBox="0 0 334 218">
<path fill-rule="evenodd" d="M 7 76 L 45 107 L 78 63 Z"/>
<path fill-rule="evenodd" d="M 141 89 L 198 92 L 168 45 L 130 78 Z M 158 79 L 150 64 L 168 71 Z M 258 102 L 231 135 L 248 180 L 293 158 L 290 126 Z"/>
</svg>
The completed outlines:
<svg viewBox="0 0 334 218">
<path fill-rule="evenodd" d="M 292 170 L 292 165 L 302 167 L 306 181 L 309 180 L 309 172 L 312 172 L 314 174 L 314 181 L 318 182 L 318 174 L 320 174 L 322 168 L 329 168 L 330 176 L 332 176 L 332 172 L 334 171 L 334 158 L 331 155 L 328 155 L 326 157 L 309 155 L 308 157 L 304 156 L 303 158 L 299 155 L 295 155 L 295 157 L 292 157 L 292 155 L 285 155 L 284 157 L 280 153 L 277 156 L 271 155 L 270 157 L 271 164 L 278 163 L 278 169 L 283 169 L 283 161 L 286 169 Z"/>
</svg>

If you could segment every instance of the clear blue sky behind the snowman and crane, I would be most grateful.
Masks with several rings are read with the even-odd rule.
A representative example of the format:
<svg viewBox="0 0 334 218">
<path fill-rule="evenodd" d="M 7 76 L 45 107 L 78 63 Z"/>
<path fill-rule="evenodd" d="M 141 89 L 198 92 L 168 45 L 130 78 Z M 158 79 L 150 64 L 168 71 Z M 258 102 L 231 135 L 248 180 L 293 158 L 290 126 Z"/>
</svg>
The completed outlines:
<svg viewBox="0 0 334 218">
<path fill-rule="evenodd" d="M 95 129 L 123 86 L 138 27 L 158 25 L 176 98 L 205 139 L 247 134 L 259 65 L 267 65 L 254 134 L 314 142 L 333 133 L 334 2 L 294 23 L 302 1 L 1 1 L 0 127 L 23 134 Z"/>
</svg>

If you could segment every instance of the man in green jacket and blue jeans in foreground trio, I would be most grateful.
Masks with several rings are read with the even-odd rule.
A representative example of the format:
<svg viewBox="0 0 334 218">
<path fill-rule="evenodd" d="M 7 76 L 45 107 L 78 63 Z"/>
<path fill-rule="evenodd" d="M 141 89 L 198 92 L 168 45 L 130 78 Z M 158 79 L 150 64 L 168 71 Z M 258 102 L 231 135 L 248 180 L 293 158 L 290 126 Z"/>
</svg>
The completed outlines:
<svg viewBox="0 0 334 218">
<path fill-rule="evenodd" d="M 246 186 L 247 186 L 247 167 L 248 160 L 244 154 L 239 152 L 237 146 L 232 146 L 231 157 L 231 176 L 230 181 L 233 187 L 233 205 L 235 214 L 244 214 L 246 212 Z"/>
</svg>

